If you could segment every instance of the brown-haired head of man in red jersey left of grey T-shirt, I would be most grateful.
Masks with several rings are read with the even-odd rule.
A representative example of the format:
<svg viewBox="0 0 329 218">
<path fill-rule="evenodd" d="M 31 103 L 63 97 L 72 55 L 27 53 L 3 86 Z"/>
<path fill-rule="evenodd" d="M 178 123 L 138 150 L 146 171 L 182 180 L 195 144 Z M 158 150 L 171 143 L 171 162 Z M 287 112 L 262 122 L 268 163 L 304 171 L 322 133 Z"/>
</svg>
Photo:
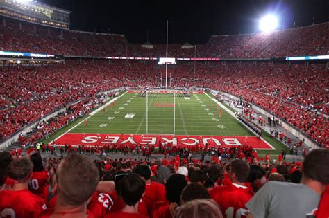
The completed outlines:
<svg viewBox="0 0 329 218">
<path fill-rule="evenodd" d="M 231 179 L 233 179 L 234 176 L 237 182 L 244 183 L 248 179 L 250 170 L 251 169 L 246 161 L 235 159 L 230 164 Z"/>
</svg>

